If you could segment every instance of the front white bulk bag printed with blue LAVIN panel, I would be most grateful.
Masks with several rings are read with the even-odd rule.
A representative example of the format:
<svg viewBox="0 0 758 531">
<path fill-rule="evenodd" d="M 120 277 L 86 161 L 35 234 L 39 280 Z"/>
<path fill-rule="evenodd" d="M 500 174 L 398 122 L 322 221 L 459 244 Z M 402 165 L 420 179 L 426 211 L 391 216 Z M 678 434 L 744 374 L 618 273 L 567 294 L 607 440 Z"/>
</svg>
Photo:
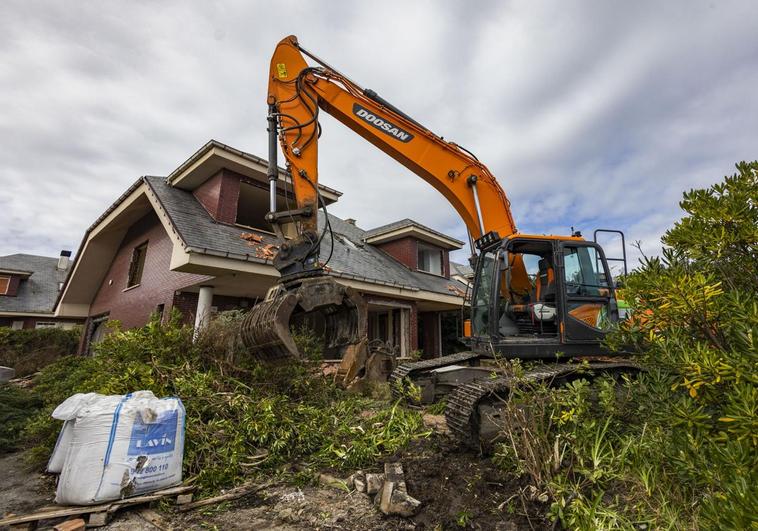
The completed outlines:
<svg viewBox="0 0 758 531">
<path fill-rule="evenodd" d="M 56 503 L 88 505 L 181 483 L 181 400 L 139 392 L 120 397 L 115 408 L 113 397 L 101 397 L 81 399 L 75 409 Z"/>
</svg>

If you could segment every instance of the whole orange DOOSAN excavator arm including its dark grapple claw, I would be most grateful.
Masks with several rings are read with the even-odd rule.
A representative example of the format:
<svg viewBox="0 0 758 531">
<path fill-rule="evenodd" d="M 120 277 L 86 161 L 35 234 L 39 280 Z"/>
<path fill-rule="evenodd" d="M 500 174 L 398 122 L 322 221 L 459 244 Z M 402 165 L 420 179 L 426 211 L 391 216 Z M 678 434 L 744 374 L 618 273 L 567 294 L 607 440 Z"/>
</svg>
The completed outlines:
<svg viewBox="0 0 758 531">
<path fill-rule="evenodd" d="M 303 55 L 319 66 L 309 66 Z M 319 113 L 324 111 L 374 144 L 436 188 L 455 208 L 472 240 L 500 241 L 516 232 L 505 192 L 487 167 L 464 148 L 429 131 L 410 116 L 363 89 L 304 50 L 294 36 L 279 42 L 271 59 L 268 85 L 270 209 L 267 220 L 280 237 L 274 266 L 280 283 L 243 323 L 243 339 L 262 361 L 297 357 L 290 330 L 315 328 L 325 348 L 343 359 L 345 381 L 371 373 L 366 307 L 362 297 L 322 275 L 317 211 Z M 297 208 L 276 211 L 277 144 L 287 159 Z M 284 237 L 283 225 L 296 223 L 297 236 Z M 473 252 L 473 250 L 472 250 Z M 529 285 L 523 263 L 511 264 L 511 287 Z M 507 288 L 506 288 L 507 289 Z M 358 368 L 358 369 L 356 369 Z M 340 373 L 340 374 L 342 374 Z"/>
</svg>

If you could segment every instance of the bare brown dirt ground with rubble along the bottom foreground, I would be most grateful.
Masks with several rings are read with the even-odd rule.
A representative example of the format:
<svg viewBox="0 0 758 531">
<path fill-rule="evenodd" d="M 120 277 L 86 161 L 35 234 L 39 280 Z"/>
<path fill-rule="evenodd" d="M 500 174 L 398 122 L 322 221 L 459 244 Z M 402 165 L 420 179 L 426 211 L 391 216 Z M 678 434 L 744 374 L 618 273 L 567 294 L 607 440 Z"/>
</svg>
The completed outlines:
<svg viewBox="0 0 758 531">
<path fill-rule="evenodd" d="M 545 507 L 522 504 L 524 485 L 508 480 L 490 460 L 455 448 L 444 436 L 417 442 L 387 461 L 402 463 L 408 493 L 422 502 L 412 518 L 386 517 L 358 492 L 329 487 L 279 486 L 233 502 L 178 513 L 159 507 L 117 513 L 102 528 L 112 531 L 219 530 L 411 530 L 549 528 Z M 0 514 L 24 514 L 51 505 L 52 476 L 30 471 L 22 454 L 0 458 Z M 367 470 L 367 472 L 381 472 Z M 40 529 L 50 529 L 45 522 Z"/>
</svg>

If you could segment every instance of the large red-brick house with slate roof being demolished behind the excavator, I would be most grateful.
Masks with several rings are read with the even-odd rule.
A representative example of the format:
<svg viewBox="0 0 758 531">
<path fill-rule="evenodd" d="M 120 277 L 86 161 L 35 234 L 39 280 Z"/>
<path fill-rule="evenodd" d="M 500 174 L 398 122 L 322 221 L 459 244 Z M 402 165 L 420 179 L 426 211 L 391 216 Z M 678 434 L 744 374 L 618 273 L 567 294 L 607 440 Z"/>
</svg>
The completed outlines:
<svg viewBox="0 0 758 531">
<path fill-rule="evenodd" d="M 58 298 L 56 314 L 86 319 L 82 350 L 103 325 L 141 326 L 178 309 L 201 326 L 209 313 L 250 308 L 279 273 L 268 211 L 267 163 L 210 141 L 167 177 L 138 179 L 87 230 Z M 287 208 L 289 175 L 280 169 L 278 201 Z M 320 185 L 324 203 L 340 192 Z M 368 304 L 371 339 L 401 355 L 443 351 L 442 317 L 463 304 L 465 285 L 450 278 L 448 253 L 462 242 L 410 219 L 361 229 L 355 220 L 321 215 L 333 238 L 321 260 Z M 421 329 L 421 333 L 419 333 Z"/>
</svg>

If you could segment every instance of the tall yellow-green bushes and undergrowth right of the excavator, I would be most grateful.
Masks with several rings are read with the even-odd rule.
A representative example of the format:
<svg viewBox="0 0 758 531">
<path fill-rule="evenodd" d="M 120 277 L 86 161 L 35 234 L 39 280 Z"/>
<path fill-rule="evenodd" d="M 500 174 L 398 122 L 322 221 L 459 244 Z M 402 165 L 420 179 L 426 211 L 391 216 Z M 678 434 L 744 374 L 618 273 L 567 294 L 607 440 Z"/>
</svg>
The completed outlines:
<svg viewBox="0 0 758 531">
<path fill-rule="evenodd" d="M 758 527 L 758 162 L 737 169 L 626 279 L 611 344 L 647 371 L 511 398 L 498 462 L 568 528 Z"/>
</svg>

